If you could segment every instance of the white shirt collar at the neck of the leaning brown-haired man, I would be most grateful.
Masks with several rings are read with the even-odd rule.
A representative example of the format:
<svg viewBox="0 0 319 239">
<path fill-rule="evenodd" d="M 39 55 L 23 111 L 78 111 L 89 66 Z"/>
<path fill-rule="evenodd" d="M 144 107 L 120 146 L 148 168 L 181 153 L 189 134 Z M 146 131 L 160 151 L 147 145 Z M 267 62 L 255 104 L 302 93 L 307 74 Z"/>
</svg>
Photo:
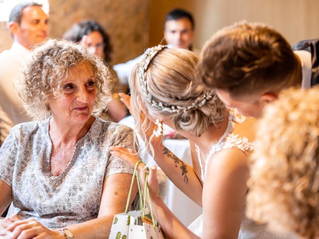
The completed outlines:
<svg viewBox="0 0 319 239">
<path fill-rule="evenodd" d="M 299 57 L 301 66 L 302 66 L 303 79 L 302 79 L 301 88 L 303 89 L 311 88 L 311 76 L 312 76 L 311 53 L 305 50 L 294 51 L 294 53 Z"/>
</svg>

